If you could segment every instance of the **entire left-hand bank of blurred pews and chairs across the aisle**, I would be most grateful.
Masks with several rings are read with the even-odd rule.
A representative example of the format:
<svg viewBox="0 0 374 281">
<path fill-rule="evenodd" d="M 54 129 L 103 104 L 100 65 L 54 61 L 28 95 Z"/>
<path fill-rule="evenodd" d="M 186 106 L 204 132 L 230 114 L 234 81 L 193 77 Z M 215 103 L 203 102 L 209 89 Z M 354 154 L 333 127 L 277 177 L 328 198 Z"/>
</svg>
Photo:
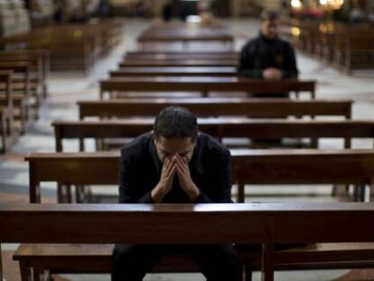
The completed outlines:
<svg viewBox="0 0 374 281">
<path fill-rule="evenodd" d="M 1 153 L 39 117 L 50 71 L 89 71 L 117 46 L 121 28 L 120 21 L 67 24 L 0 39 Z"/>
</svg>

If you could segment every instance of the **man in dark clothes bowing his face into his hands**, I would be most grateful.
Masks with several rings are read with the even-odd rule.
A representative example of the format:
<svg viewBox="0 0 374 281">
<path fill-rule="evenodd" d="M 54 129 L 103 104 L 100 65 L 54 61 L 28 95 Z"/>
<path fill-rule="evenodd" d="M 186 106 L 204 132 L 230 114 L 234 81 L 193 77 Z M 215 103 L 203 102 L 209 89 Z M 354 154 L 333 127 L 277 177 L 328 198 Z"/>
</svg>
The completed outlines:
<svg viewBox="0 0 374 281">
<path fill-rule="evenodd" d="M 120 203 L 229 203 L 229 150 L 198 132 L 197 118 L 184 108 L 164 108 L 153 132 L 138 136 L 121 151 Z M 193 258 L 209 281 L 241 280 L 232 245 L 116 245 L 113 281 L 143 280 L 168 253 Z"/>
</svg>

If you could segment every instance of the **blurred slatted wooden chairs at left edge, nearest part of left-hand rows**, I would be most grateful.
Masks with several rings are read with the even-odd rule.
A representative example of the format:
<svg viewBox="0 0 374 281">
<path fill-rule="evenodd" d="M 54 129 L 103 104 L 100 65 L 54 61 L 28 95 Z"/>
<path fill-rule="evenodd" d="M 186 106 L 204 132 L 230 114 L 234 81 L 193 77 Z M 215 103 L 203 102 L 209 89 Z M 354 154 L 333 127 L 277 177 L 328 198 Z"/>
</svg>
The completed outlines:
<svg viewBox="0 0 374 281">
<path fill-rule="evenodd" d="M 0 115 L 2 153 L 24 134 L 47 98 L 49 52 L 0 51 Z"/>
</svg>

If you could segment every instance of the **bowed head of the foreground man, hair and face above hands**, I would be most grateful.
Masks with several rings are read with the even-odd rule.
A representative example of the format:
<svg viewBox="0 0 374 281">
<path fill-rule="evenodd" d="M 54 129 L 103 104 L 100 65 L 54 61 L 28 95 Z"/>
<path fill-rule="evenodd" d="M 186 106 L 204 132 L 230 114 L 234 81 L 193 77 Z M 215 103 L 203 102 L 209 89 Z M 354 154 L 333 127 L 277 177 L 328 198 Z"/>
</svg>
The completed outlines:
<svg viewBox="0 0 374 281">
<path fill-rule="evenodd" d="M 190 161 L 197 136 L 197 117 L 186 108 L 164 108 L 155 118 L 154 145 L 162 163 L 175 154 Z"/>
</svg>

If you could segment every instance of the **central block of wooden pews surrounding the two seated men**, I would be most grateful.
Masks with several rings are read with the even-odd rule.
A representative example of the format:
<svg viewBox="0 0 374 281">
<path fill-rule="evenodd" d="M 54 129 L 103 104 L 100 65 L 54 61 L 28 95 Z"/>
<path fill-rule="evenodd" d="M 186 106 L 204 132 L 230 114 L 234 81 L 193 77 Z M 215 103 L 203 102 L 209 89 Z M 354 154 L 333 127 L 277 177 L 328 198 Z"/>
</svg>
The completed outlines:
<svg viewBox="0 0 374 281">
<path fill-rule="evenodd" d="M 4 228 L 0 242 L 43 244 L 22 244 L 15 252 L 23 280 L 60 273 L 108 273 L 112 244 L 121 242 L 234 242 L 247 281 L 255 270 L 270 281 L 275 270 L 374 266 L 374 229 L 369 223 L 374 207 L 364 202 L 369 201 L 373 186 L 374 153 L 372 147 L 351 148 L 353 138 L 374 139 L 374 121 L 352 120 L 351 100 L 317 98 L 315 81 L 239 80 L 234 72 L 222 77 L 206 66 L 180 62 L 225 61 L 220 58 L 236 55 L 231 51 L 127 53 L 119 69 L 100 81 L 98 100 L 79 101 L 79 120 L 52 123 L 56 153 L 26 157 L 33 204 L 0 206 L 0 226 Z M 178 61 L 181 66 L 122 64 L 159 60 Z M 227 66 L 214 66 L 220 68 Z M 199 75 L 190 75 L 192 72 Z M 247 98 L 251 91 L 289 91 L 292 98 Z M 201 131 L 229 146 L 240 204 L 86 204 L 94 201 L 90 185 L 117 185 L 119 152 L 114 139 L 123 145 L 149 131 L 154 116 L 167 106 L 190 108 L 199 117 Z M 259 149 L 248 142 L 248 138 L 269 137 L 293 137 L 296 146 Z M 321 149 L 319 139 L 323 137 L 343 140 L 342 149 Z M 233 144 L 232 138 L 242 142 Z M 64 151 L 68 139 L 78 140 L 75 152 Z M 86 139 L 95 139 L 94 152 L 87 152 Z M 41 185 L 50 182 L 57 183 L 57 201 L 63 204 L 41 204 Z M 353 190 L 349 200 L 357 202 L 244 203 L 252 184 L 275 184 L 280 189 L 293 184 L 343 184 Z M 299 243 L 308 246 L 277 247 Z M 154 268 L 170 273 L 197 270 L 182 255 L 165 257 Z"/>
</svg>

